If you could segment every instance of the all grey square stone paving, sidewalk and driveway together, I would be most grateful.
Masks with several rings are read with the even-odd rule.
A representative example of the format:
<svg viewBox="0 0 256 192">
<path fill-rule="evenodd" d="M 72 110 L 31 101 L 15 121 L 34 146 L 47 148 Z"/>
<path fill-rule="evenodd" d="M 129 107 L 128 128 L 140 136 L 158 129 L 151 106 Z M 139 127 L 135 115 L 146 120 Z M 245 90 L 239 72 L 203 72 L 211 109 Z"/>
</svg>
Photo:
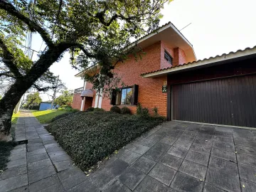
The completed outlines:
<svg viewBox="0 0 256 192">
<path fill-rule="evenodd" d="M 256 188 L 256 131 L 164 122 L 124 146 L 86 176 L 54 137 L 23 112 L 0 174 L 1 191 L 252 192 Z"/>
</svg>

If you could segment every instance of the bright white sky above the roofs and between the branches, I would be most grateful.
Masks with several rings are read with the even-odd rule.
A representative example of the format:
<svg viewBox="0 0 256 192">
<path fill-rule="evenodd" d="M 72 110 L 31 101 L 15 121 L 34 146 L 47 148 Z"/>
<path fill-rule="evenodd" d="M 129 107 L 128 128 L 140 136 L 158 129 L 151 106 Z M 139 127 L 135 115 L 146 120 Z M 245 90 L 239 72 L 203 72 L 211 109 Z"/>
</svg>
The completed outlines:
<svg viewBox="0 0 256 192">
<path fill-rule="evenodd" d="M 164 6 L 160 26 L 171 21 L 180 30 L 191 23 L 181 33 L 193 45 L 199 60 L 256 46 L 255 7 L 253 0 L 174 0 Z M 41 43 L 39 36 L 33 36 L 34 50 L 40 50 Z M 34 54 L 33 60 L 36 59 Z M 68 53 L 54 63 L 50 71 L 60 75 L 68 90 L 83 85 L 83 81 L 74 76 L 78 70 L 71 68 Z M 41 97 L 43 101 L 48 100 L 46 94 Z"/>
</svg>

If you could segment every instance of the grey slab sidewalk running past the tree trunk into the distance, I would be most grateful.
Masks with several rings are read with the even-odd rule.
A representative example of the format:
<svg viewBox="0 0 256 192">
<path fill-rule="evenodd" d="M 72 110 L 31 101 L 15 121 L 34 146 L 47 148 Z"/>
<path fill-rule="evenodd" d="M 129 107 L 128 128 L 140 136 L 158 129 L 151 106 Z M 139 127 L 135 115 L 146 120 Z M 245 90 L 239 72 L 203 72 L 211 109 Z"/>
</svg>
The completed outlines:
<svg viewBox="0 0 256 192">
<path fill-rule="evenodd" d="M 25 139 L 28 144 L 11 151 L 7 169 L 0 174 L 0 192 L 68 191 L 87 179 L 36 117 L 21 111 L 16 140 Z"/>
</svg>

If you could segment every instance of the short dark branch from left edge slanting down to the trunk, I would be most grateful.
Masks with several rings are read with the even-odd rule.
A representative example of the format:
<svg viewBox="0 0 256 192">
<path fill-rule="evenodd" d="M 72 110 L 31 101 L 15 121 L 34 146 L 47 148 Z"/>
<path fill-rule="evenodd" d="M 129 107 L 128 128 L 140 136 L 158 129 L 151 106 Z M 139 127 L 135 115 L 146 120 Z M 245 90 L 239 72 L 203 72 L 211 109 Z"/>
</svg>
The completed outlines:
<svg viewBox="0 0 256 192">
<path fill-rule="evenodd" d="M 3 59 L 4 64 L 9 68 L 11 73 L 14 73 L 16 78 L 23 77 L 21 73 L 19 73 L 17 66 L 14 64 L 14 55 L 8 50 L 6 44 L 3 39 L 0 37 L 0 48 L 3 50 Z"/>
</svg>

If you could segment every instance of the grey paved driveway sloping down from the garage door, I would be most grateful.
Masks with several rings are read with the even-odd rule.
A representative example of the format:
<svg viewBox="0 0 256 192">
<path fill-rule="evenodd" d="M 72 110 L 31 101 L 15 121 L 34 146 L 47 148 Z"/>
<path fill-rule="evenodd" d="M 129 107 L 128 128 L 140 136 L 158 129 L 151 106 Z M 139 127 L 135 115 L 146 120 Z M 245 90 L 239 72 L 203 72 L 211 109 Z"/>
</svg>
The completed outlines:
<svg viewBox="0 0 256 192">
<path fill-rule="evenodd" d="M 255 136 L 252 129 L 166 122 L 73 191 L 256 191 Z"/>
</svg>

